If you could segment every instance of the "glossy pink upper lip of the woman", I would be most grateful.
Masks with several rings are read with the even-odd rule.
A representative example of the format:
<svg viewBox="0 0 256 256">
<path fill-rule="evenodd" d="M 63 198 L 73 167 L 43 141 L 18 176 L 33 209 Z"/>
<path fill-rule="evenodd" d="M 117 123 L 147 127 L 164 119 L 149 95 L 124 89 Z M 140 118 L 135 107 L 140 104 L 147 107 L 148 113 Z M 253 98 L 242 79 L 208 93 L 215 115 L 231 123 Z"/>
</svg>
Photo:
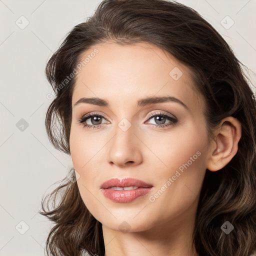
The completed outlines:
<svg viewBox="0 0 256 256">
<path fill-rule="evenodd" d="M 100 186 L 100 188 L 108 188 L 111 186 L 119 186 L 119 187 L 125 187 L 125 186 L 138 186 L 138 187 L 151 187 L 151 184 L 148 184 L 142 180 L 136 179 L 136 178 L 111 178 L 103 182 Z"/>
</svg>

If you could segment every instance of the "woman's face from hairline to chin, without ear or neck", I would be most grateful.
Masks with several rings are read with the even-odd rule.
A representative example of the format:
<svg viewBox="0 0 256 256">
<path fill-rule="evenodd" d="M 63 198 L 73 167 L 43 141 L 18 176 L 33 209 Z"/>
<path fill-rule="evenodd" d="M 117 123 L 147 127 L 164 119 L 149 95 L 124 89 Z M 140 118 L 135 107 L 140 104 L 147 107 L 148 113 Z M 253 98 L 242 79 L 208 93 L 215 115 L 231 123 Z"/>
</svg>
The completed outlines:
<svg viewBox="0 0 256 256">
<path fill-rule="evenodd" d="M 102 225 L 115 230 L 191 222 L 209 144 L 204 102 L 193 89 L 189 69 L 146 43 L 106 42 L 82 59 L 87 55 L 76 76 L 70 131 L 84 204 Z M 156 99 L 146 100 L 151 97 Z M 79 123 L 88 114 L 94 118 Z M 151 187 L 134 183 L 123 190 L 130 186 L 124 183 L 121 190 L 103 189 L 111 178 L 135 178 Z"/>
</svg>

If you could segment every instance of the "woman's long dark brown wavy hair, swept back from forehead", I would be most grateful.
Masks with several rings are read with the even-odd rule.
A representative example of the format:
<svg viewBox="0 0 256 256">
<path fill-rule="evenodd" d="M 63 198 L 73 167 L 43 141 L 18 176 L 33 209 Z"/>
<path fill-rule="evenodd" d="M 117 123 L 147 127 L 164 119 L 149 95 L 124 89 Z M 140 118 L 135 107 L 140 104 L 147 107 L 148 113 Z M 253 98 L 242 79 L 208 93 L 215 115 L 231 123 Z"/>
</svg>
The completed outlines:
<svg viewBox="0 0 256 256">
<path fill-rule="evenodd" d="M 71 98 L 76 76 L 64 85 L 62 82 L 86 50 L 106 40 L 121 45 L 151 43 L 186 64 L 206 101 L 209 138 L 222 118 L 233 116 L 240 121 L 237 153 L 219 171 L 206 169 L 193 243 L 200 256 L 249 256 L 256 250 L 255 97 L 242 63 L 192 8 L 165 0 L 103 0 L 86 22 L 75 25 L 45 67 L 55 92 L 45 117 L 50 142 L 70 154 Z M 54 222 L 46 241 L 47 255 L 78 256 L 87 251 L 103 256 L 101 223 L 84 205 L 77 183 L 68 178 L 62 181 L 42 199 L 39 211 Z M 229 234 L 220 228 L 227 220 L 234 226 Z"/>
</svg>

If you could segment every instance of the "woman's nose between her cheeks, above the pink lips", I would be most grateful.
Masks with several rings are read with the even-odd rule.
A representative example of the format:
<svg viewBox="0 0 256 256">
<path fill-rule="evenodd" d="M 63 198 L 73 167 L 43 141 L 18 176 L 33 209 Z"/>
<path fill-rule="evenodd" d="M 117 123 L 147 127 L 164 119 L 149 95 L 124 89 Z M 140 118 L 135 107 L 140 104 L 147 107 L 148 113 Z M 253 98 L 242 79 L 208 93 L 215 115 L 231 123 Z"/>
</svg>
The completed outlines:
<svg viewBox="0 0 256 256">
<path fill-rule="evenodd" d="M 117 126 L 115 135 L 109 141 L 108 162 L 118 167 L 135 166 L 142 162 L 141 140 L 133 133 L 131 126 L 123 131 Z"/>
</svg>

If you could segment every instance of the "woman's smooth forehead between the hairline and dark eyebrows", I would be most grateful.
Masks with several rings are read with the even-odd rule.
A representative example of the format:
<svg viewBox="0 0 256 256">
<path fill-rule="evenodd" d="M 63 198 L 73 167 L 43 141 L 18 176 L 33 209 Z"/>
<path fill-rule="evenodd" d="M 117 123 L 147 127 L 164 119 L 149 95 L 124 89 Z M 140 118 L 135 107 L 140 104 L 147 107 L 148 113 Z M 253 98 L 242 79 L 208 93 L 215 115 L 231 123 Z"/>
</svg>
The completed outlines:
<svg viewBox="0 0 256 256">
<path fill-rule="evenodd" d="M 104 98 L 115 106 L 136 104 L 144 96 L 173 96 L 190 106 L 200 101 L 190 69 L 155 45 L 108 41 L 83 52 L 80 60 L 85 58 L 76 74 L 72 104 L 80 97 Z"/>
</svg>

